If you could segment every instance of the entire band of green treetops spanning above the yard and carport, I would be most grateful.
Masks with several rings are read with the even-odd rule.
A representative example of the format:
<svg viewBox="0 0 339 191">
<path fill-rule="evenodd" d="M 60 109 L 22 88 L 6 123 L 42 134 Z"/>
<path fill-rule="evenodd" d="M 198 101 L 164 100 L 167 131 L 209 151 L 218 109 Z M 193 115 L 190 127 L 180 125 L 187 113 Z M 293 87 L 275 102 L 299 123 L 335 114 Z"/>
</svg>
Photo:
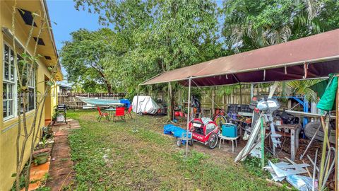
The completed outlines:
<svg viewBox="0 0 339 191">
<path fill-rule="evenodd" d="M 74 1 L 108 28 L 65 42 L 69 81 L 129 96 L 163 71 L 339 28 L 335 0 Z"/>
</svg>

